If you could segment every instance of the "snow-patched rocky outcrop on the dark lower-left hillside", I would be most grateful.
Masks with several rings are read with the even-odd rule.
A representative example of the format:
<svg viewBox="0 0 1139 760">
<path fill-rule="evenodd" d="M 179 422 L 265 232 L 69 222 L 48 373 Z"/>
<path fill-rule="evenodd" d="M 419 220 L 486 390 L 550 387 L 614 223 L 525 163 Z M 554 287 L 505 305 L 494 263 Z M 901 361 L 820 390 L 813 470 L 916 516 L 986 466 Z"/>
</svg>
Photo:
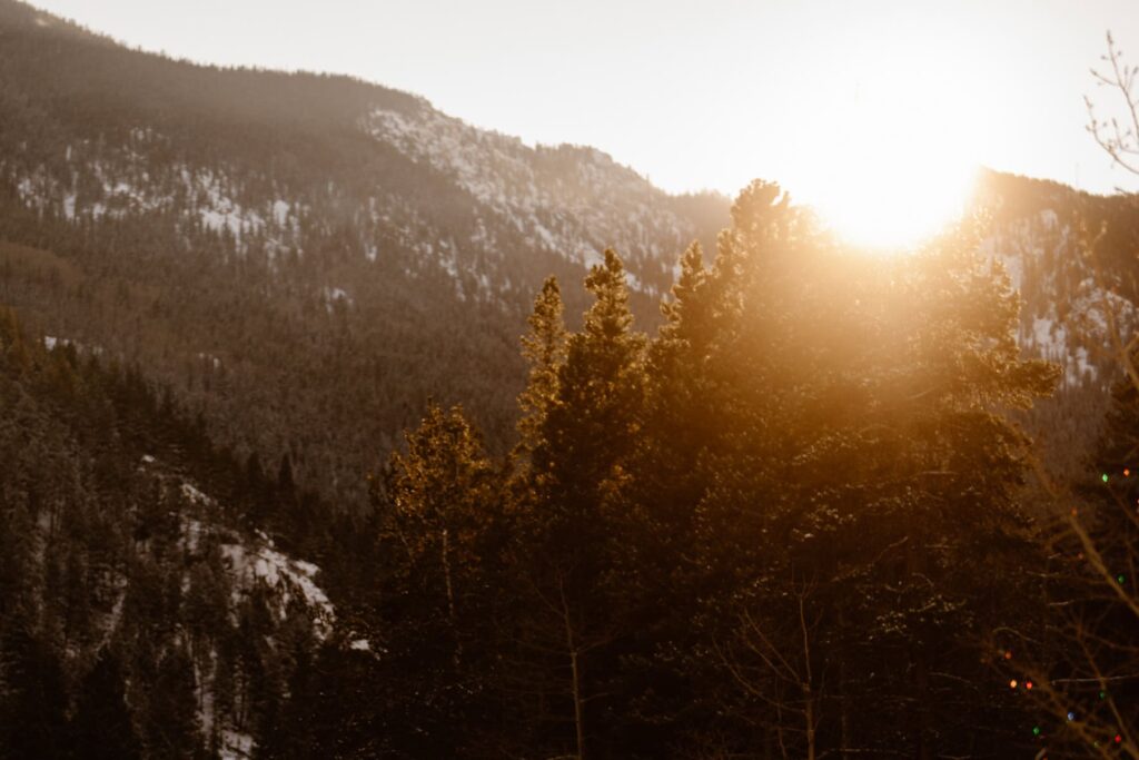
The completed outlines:
<svg viewBox="0 0 1139 760">
<path fill-rule="evenodd" d="M 203 749 L 214 747 L 221 758 L 253 755 L 254 741 L 243 719 L 240 700 L 232 696 L 236 679 L 254 677 L 251 668 L 261 660 L 235 655 L 240 646 L 264 648 L 267 659 L 280 656 L 290 646 L 337 641 L 350 651 L 372 652 L 367 639 L 338 630 L 336 608 L 320 586 L 320 569 L 289 557 L 260 531 L 228 528 L 224 505 L 204 493 L 191 481 L 169 472 L 163 463 L 144 456 L 138 474 L 154 484 L 155 498 L 166 508 L 175 532 L 173 544 L 151 536 L 140 546 L 175 573 L 180 612 L 169 630 L 169 644 L 192 653 L 194 690 Z M 171 551 L 177 557 L 171 556 Z M 121 634 L 124 602 L 132 593 L 130 579 L 112 581 L 120 589 L 100 643 Z M 310 644 L 311 643 L 311 644 Z M 162 643 L 159 643 L 161 645 Z M 76 657 L 90 653 L 74 652 Z M 260 667 L 257 664 L 256 667 Z"/>
</svg>

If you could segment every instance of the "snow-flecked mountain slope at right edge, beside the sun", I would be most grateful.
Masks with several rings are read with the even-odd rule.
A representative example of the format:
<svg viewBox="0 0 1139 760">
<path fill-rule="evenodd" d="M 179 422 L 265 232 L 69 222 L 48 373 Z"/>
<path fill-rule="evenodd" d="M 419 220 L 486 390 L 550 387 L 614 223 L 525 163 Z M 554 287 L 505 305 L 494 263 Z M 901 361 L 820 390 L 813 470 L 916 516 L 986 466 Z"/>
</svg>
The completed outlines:
<svg viewBox="0 0 1139 760">
<path fill-rule="evenodd" d="M 1139 326 L 1139 198 L 985 172 L 976 202 L 991 218 L 982 252 L 1021 294 L 1022 351 L 1064 370 L 1056 395 L 1023 422 L 1047 464 L 1072 476 L 1122 379 L 1117 341 Z"/>
</svg>

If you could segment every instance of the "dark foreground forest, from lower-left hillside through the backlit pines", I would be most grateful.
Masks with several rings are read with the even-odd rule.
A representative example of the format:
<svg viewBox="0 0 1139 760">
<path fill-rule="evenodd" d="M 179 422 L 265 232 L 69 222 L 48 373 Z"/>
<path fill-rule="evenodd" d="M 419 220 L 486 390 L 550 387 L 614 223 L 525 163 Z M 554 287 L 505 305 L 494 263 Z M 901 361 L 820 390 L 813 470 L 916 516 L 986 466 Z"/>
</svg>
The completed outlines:
<svg viewBox="0 0 1139 760">
<path fill-rule="evenodd" d="M 1005 657 L 1032 641 L 1033 662 L 1066 662 L 1050 605 L 1097 604 L 1056 572 L 1056 524 L 1025 499 L 1031 441 L 1007 415 L 1058 370 L 1021 358 L 1017 299 L 976 239 L 867 267 L 757 182 L 710 265 L 685 254 L 652 337 L 613 252 L 577 330 L 548 280 L 510 452 L 431 406 L 369 476 L 368 516 L 341 521 L 287 459 L 276 477 L 239 464 L 136 374 L 48 352 L 9 318 L 8 753 L 87 757 L 91 732 L 121 742 L 108 757 L 1009 757 L 1065 741 Z M 1097 480 L 1136 496 L 1120 467 L 1134 392 L 1115 409 L 1101 480 L 1077 483 L 1089 502 L 1116 493 Z M 221 498 L 163 488 L 189 477 Z M 311 608 L 274 613 L 257 585 L 231 590 L 231 547 L 260 529 L 321 563 L 337 632 Z M 1112 695 L 1125 725 L 1130 689 Z"/>
</svg>

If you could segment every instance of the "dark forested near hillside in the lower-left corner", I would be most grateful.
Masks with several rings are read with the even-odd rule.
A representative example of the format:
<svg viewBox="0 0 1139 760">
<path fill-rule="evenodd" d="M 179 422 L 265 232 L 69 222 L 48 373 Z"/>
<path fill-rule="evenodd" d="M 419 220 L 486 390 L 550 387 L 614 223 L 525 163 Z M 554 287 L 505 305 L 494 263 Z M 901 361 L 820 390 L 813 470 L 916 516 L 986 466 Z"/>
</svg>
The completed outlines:
<svg viewBox="0 0 1139 760">
<path fill-rule="evenodd" d="M 328 597 L 367 561 L 359 525 L 287 459 L 247 468 L 169 392 L 7 310 L 0 404 L 0 757 L 244 755 L 319 652 L 372 656 Z M 254 525 L 337 549 L 322 571 Z"/>
</svg>

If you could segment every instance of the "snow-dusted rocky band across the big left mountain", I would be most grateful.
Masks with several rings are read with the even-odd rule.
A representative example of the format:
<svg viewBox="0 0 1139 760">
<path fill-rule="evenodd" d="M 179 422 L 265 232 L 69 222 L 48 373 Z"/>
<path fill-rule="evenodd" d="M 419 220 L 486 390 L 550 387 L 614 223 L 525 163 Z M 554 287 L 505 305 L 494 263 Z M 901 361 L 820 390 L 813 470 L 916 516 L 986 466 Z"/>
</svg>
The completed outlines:
<svg viewBox="0 0 1139 760">
<path fill-rule="evenodd" d="M 454 210 L 459 219 L 441 219 L 431 198 L 408 198 L 382 174 L 369 178 L 370 187 L 350 189 L 330 177 L 317 190 L 270 189 L 238 165 L 156 161 L 163 152 L 177 155 L 178 146 L 146 124 L 117 144 L 80 137 L 50 162 L 0 158 L 0 178 L 41 216 L 74 226 L 167 223 L 187 245 L 213 234 L 240 255 L 270 261 L 305 255 L 325 231 L 321 220 L 339 216 L 353 228 L 341 243 L 346 255 L 374 263 L 398 247 L 416 269 L 434 264 L 448 272 L 460 299 L 492 300 L 525 286 L 511 277 L 518 254 L 541 252 L 588 268 L 607 247 L 625 259 L 630 285 L 655 297 L 671 284 L 678 252 L 710 232 L 682 213 L 682 202 L 591 148 L 531 148 L 425 101 L 412 115 L 377 108 L 361 129 L 380 149 L 395 148 L 412 165 L 437 172 L 452 193 L 466 194 L 459 203 L 468 207 Z M 453 221 L 461 229 L 451 229 Z"/>
</svg>

